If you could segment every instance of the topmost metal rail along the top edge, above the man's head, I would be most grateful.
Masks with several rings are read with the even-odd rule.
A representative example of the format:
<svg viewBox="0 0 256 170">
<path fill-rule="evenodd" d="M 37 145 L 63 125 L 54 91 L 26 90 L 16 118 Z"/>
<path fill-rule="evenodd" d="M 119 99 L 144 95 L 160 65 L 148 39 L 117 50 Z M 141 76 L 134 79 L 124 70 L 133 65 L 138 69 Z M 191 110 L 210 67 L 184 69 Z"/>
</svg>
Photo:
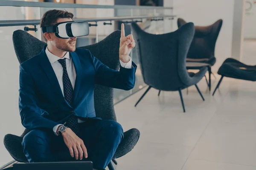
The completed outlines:
<svg viewBox="0 0 256 170">
<path fill-rule="evenodd" d="M 172 9 L 172 7 L 160 6 L 131 6 L 131 5 L 87 5 L 74 3 L 45 3 L 45 2 L 28 2 L 17 0 L 0 0 L 0 6 L 25 6 L 41 8 L 101 8 L 101 9 Z"/>
</svg>

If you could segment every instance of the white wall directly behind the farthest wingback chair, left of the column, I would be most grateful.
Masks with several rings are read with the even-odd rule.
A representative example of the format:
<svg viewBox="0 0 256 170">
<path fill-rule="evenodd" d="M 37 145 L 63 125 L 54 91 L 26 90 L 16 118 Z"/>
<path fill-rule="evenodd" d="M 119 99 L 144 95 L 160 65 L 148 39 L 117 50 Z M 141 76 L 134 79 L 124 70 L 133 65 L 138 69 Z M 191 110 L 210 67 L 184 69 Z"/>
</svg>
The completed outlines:
<svg viewBox="0 0 256 170">
<path fill-rule="evenodd" d="M 217 62 L 212 67 L 217 72 L 221 63 L 231 57 L 234 0 L 173 0 L 173 7 L 173 14 L 195 25 L 207 26 L 223 20 L 215 47 Z M 177 18 L 173 26 L 177 29 Z"/>
</svg>

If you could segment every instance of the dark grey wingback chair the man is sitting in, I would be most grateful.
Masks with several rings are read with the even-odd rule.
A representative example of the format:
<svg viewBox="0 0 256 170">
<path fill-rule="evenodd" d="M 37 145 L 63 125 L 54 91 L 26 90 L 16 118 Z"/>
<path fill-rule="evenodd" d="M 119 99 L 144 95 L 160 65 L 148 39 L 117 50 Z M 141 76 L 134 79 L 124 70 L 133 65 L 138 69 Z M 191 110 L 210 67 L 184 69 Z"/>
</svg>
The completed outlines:
<svg viewBox="0 0 256 170">
<path fill-rule="evenodd" d="M 119 42 L 120 31 L 115 31 L 99 43 L 83 46 L 80 48 L 89 49 L 92 54 L 97 57 L 102 63 L 112 69 L 119 69 Z M 29 33 L 17 30 L 13 33 L 13 44 L 15 52 L 20 63 L 37 55 L 46 43 L 38 40 Z M 113 89 L 105 86 L 95 85 L 94 101 L 96 116 L 102 119 L 116 121 L 116 114 L 113 107 Z M 27 158 L 23 154 L 21 141 L 23 136 L 30 130 L 25 130 L 20 136 L 7 134 L 4 137 L 4 145 L 10 155 L 18 162 L 27 162 Z M 137 144 L 140 138 L 140 131 L 133 128 L 124 133 L 124 138 L 116 150 L 113 160 L 108 165 L 110 170 L 115 170 L 113 162 L 116 164 L 115 158 L 124 156 L 130 152 Z"/>
</svg>

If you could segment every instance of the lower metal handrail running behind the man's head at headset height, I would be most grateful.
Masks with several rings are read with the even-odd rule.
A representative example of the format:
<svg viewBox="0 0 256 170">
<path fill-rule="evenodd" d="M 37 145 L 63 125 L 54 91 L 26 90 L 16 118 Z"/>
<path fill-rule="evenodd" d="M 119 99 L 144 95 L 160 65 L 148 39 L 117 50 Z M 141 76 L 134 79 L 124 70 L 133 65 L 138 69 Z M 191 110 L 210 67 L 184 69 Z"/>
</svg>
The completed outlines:
<svg viewBox="0 0 256 170">
<path fill-rule="evenodd" d="M 111 20 L 136 20 L 145 18 L 163 18 L 169 17 L 173 19 L 176 15 L 145 15 L 145 16 L 127 16 L 127 17 L 103 17 L 103 18 L 74 18 L 74 21 L 86 20 L 87 22 L 98 22 L 98 21 L 111 21 Z M 0 20 L 0 27 L 2 26 L 29 26 L 39 25 L 40 20 Z"/>
</svg>

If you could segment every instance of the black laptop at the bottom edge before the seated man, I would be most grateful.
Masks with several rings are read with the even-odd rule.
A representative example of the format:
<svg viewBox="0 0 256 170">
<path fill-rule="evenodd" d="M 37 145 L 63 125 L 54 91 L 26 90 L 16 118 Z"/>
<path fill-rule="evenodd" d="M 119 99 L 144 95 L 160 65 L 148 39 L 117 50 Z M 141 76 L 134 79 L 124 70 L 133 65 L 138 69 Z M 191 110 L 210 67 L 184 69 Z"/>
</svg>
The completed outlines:
<svg viewBox="0 0 256 170">
<path fill-rule="evenodd" d="M 13 164 L 13 170 L 93 170 L 93 163 L 90 161 L 17 163 Z"/>
</svg>

